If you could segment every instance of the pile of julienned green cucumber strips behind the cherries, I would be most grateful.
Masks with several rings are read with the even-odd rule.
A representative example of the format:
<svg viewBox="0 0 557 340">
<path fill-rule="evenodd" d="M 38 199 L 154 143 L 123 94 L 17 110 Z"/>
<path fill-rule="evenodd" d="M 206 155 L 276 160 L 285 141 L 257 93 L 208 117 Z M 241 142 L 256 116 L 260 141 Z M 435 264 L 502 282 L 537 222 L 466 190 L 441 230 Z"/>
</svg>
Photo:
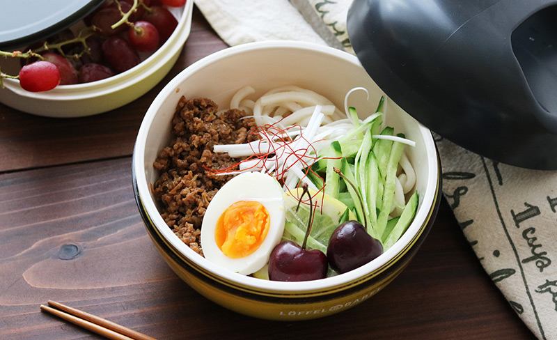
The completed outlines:
<svg viewBox="0 0 557 340">
<path fill-rule="evenodd" d="M 383 99 L 383 98 L 382 98 Z M 384 250 L 389 249 L 406 231 L 416 214 L 418 194 L 414 192 L 402 210 L 400 217 L 389 219 L 393 204 L 402 206 L 404 202 L 395 202 L 395 187 L 398 163 L 404 153 L 405 144 L 393 140 L 393 127 L 382 125 L 381 100 L 375 114 L 363 121 L 357 119 L 356 110 L 349 108 L 349 116 L 354 123 L 352 130 L 324 148 L 317 155 L 320 161 L 312 166 L 316 173 L 324 174 L 324 192 L 345 203 L 354 212 L 356 218 L 364 224 L 364 215 L 368 220 L 368 233 L 381 241 Z M 378 136 L 389 136 L 390 139 Z M 404 134 L 397 134 L 405 138 Z M 396 139 L 396 138 L 395 138 Z M 356 184 L 356 190 L 339 178 L 333 167 L 342 171 L 343 175 Z M 310 171 L 311 172 L 311 171 Z M 323 180 L 312 178 L 317 188 L 323 187 Z M 359 203 L 359 196 L 364 208 Z M 315 245 L 317 246 L 317 245 Z M 323 245 L 322 246 L 327 246 Z"/>
</svg>

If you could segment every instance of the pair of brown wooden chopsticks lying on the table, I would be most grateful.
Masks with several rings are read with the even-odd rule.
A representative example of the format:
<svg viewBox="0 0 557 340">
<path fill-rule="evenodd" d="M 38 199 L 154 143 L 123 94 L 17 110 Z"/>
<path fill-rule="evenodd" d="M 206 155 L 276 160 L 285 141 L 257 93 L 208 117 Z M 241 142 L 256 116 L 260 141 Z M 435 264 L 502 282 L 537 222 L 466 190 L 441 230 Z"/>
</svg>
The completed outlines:
<svg viewBox="0 0 557 340">
<path fill-rule="evenodd" d="M 40 305 L 41 311 L 46 311 L 50 314 L 54 314 L 59 318 L 63 318 L 74 325 L 90 330 L 91 332 L 102 335 L 103 337 L 111 340 L 157 340 L 155 338 L 149 337 L 146 334 L 136 332 L 130 328 L 118 325 L 118 323 L 113 323 L 99 316 L 93 314 L 88 314 L 85 311 L 80 311 L 60 302 L 50 301 L 49 306 L 45 304 Z M 55 308 L 52 308 L 55 307 Z M 57 309 L 56 309 L 57 308 Z"/>
</svg>

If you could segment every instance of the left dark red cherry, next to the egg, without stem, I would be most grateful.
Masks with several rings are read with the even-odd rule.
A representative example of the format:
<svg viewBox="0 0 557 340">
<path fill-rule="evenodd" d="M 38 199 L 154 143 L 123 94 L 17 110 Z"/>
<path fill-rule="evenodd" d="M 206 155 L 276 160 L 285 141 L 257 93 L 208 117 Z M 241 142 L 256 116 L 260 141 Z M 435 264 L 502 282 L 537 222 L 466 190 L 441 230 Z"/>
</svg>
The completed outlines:
<svg viewBox="0 0 557 340">
<path fill-rule="evenodd" d="M 311 281 L 327 277 L 327 256 L 318 249 L 302 249 L 292 241 L 281 242 L 271 252 L 269 279 Z"/>
</svg>

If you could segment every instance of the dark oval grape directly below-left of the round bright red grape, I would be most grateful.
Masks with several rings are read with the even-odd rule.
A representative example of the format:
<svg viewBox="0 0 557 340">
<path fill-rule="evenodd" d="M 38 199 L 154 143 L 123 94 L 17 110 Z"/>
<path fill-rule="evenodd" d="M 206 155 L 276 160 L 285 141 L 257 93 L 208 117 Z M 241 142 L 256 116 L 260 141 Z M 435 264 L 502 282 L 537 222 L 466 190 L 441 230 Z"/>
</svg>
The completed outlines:
<svg viewBox="0 0 557 340">
<path fill-rule="evenodd" d="M 111 36 L 102 43 L 102 52 L 113 70 L 124 72 L 139 64 L 139 54 L 132 44 L 119 36 Z"/>
</svg>

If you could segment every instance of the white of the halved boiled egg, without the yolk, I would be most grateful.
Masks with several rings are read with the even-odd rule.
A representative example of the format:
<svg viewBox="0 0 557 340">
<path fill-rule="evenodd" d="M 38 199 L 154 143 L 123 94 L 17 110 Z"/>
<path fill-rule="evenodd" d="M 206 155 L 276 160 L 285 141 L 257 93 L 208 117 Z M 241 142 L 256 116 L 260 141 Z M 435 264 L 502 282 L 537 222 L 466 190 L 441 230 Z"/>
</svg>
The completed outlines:
<svg viewBox="0 0 557 340">
<path fill-rule="evenodd" d="M 229 258 L 214 239 L 214 230 L 224 210 L 237 201 L 258 201 L 269 212 L 269 231 L 255 252 L 243 258 Z M 201 224 L 201 247 L 207 260 L 223 268 L 249 275 L 262 268 L 275 245 L 281 241 L 285 222 L 283 190 L 269 175 L 259 172 L 241 173 L 229 180 L 214 195 Z"/>
</svg>

